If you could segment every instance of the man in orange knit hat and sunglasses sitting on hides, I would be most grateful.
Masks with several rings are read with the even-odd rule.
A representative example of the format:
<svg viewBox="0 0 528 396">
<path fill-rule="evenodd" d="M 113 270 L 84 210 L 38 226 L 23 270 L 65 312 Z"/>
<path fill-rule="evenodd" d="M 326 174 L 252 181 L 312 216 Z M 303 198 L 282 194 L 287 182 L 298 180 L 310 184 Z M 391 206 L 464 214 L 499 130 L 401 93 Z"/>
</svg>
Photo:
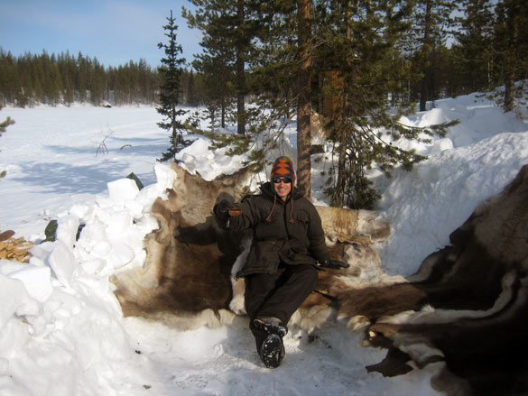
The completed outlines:
<svg viewBox="0 0 528 396">
<path fill-rule="evenodd" d="M 222 200 L 214 213 L 224 229 L 253 229 L 251 249 L 236 276 L 245 278 L 245 311 L 257 352 L 274 368 L 285 355 L 288 321 L 317 285 L 317 268 L 348 264 L 330 260 L 320 216 L 295 189 L 292 160 L 278 158 L 261 191 L 236 205 Z"/>
</svg>

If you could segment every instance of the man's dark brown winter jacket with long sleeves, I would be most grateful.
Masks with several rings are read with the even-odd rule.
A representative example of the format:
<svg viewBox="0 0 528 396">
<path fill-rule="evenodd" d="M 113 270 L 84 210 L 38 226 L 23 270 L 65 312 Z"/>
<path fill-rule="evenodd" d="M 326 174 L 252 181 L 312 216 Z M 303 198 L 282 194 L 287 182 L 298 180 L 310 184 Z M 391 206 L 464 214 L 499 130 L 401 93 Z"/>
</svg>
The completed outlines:
<svg viewBox="0 0 528 396">
<path fill-rule="evenodd" d="M 296 189 L 286 202 L 275 196 L 270 182 L 261 190 L 260 195 L 235 205 L 242 209 L 240 216 L 229 217 L 228 229 L 253 229 L 251 250 L 236 276 L 273 274 L 280 262 L 317 265 L 329 260 L 320 216 L 313 204 Z"/>
</svg>

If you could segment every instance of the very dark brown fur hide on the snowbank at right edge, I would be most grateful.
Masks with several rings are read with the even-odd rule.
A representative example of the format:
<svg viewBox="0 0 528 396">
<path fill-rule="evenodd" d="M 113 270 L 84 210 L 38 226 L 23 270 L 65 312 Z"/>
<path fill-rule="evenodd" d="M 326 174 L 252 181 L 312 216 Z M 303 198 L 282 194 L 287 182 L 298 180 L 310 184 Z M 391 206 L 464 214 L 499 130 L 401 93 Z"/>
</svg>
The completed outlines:
<svg viewBox="0 0 528 396">
<path fill-rule="evenodd" d="M 433 309 L 380 319 L 368 329 L 371 342 L 384 339 L 419 366 L 444 361 L 446 369 L 433 382 L 449 394 L 528 394 L 527 225 L 524 166 L 450 235 L 453 246 L 424 262 L 428 268 L 412 286 L 427 295 L 424 301 Z M 424 345 L 429 353 L 423 354 Z M 390 375 L 402 366 L 402 359 L 394 359 L 394 367 L 391 361 L 387 355 L 373 369 Z M 453 388 L 452 374 L 459 388 Z"/>
</svg>

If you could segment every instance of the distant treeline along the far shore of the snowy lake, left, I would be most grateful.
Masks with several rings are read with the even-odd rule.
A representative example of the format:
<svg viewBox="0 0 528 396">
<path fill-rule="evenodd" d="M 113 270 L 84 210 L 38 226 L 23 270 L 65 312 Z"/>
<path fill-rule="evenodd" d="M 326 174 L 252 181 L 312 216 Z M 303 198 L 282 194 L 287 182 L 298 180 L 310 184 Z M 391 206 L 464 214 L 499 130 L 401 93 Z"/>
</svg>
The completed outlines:
<svg viewBox="0 0 528 396">
<path fill-rule="evenodd" d="M 199 92 L 193 89 L 197 78 L 183 70 L 182 103 L 198 105 Z M 74 102 L 95 106 L 106 104 L 153 105 L 159 96 L 157 69 L 145 60 L 130 60 L 118 67 L 105 67 L 97 58 L 79 52 L 77 57 L 25 53 L 14 57 L 0 49 L 0 104 L 33 106 L 35 104 L 67 106 Z"/>
</svg>

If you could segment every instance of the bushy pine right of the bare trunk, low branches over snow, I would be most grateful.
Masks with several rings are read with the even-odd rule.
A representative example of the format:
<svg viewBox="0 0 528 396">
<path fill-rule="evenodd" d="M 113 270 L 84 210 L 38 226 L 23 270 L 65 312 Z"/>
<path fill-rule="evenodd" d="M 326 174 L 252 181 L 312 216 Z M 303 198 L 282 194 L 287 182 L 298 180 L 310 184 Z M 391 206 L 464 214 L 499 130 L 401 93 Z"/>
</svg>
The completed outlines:
<svg viewBox="0 0 528 396">
<path fill-rule="evenodd" d="M 316 33 L 324 41 L 314 57 L 320 78 L 329 75 L 322 95 L 332 98 L 331 111 L 320 110 L 330 113 L 327 127 L 336 157 L 326 192 L 332 206 L 372 208 L 379 195 L 366 170 L 377 166 L 388 177 L 399 165 L 410 170 L 424 157 L 393 142 L 400 138 L 421 141 L 421 134 L 441 134 L 449 125 L 413 128 L 399 121 L 413 110 L 403 100 L 408 97 L 402 82 L 409 65 L 396 51 L 408 32 L 411 8 L 406 2 L 349 1 L 320 6 L 319 11 Z"/>
</svg>

